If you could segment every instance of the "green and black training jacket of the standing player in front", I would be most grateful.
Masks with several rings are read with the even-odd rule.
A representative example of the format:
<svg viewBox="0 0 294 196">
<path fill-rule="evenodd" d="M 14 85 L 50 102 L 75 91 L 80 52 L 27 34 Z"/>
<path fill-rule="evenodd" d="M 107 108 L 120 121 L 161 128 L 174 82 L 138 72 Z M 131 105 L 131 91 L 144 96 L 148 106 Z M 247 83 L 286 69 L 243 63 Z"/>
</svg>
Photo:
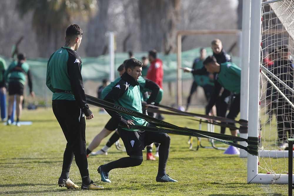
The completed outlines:
<svg viewBox="0 0 294 196">
<path fill-rule="evenodd" d="M 52 91 L 52 100 L 76 100 L 82 112 L 89 116 L 81 75 L 81 57 L 70 47 L 61 47 L 47 63 L 46 85 Z"/>
</svg>

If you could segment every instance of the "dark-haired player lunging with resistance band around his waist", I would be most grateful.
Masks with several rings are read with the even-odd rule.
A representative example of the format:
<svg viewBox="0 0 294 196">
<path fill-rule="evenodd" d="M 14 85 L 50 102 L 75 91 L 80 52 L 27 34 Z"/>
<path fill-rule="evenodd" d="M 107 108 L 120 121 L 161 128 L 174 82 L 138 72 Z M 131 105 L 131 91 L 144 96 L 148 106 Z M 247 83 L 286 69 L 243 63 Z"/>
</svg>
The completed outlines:
<svg viewBox="0 0 294 196">
<path fill-rule="evenodd" d="M 126 62 L 125 68 L 126 72 L 121 76 L 121 80 L 114 85 L 104 100 L 142 113 L 141 96 L 138 83 L 138 79 L 141 76 L 142 63 L 135 58 L 131 58 Z M 98 172 L 101 175 L 101 180 L 103 182 L 111 182 L 108 177 L 108 172 L 115 168 L 135 167 L 141 165 L 143 161 L 142 150 L 144 150 L 146 145 L 157 142 L 160 143 L 160 146 L 156 181 L 177 182 L 166 174 L 166 163 L 170 145 L 169 135 L 166 133 L 129 129 L 129 125 L 151 125 L 142 118 L 137 118 L 107 109 L 106 111 L 122 126 L 118 128 L 118 133 L 123 140 L 129 157 L 124 157 L 105 165 L 100 165 L 98 167 Z"/>
</svg>

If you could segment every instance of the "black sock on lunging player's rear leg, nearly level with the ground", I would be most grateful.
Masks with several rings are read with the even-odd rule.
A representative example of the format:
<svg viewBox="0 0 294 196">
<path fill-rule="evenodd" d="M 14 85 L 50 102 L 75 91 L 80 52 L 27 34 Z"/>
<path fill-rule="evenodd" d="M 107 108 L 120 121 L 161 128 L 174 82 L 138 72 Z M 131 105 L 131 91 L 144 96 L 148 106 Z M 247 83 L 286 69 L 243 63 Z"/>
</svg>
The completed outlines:
<svg viewBox="0 0 294 196">
<path fill-rule="evenodd" d="M 135 167 L 138 165 L 141 165 L 143 159 L 134 159 L 131 157 L 124 157 L 120 158 L 116 161 L 112 161 L 110 163 L 107 163 L 103 165 L 103 170 L 106 172 L 109 172 L 110 170 L 113 170 L 115 168 L 126 168 L 126 167 Z"/>
</svg>

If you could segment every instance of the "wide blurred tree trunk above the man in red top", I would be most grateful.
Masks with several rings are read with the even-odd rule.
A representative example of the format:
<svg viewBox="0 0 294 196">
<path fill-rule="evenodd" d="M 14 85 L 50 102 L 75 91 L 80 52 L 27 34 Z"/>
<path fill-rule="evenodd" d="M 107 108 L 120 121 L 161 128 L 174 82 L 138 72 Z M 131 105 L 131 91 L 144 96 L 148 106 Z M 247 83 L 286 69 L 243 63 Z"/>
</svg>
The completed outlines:
<svg viewBox="0 0 294 196">
<path fill-rule="evenodd" d="M 142 51 L 174 51 L 180 0 L 139 0 L 138 7 Z"/>
</svg>

